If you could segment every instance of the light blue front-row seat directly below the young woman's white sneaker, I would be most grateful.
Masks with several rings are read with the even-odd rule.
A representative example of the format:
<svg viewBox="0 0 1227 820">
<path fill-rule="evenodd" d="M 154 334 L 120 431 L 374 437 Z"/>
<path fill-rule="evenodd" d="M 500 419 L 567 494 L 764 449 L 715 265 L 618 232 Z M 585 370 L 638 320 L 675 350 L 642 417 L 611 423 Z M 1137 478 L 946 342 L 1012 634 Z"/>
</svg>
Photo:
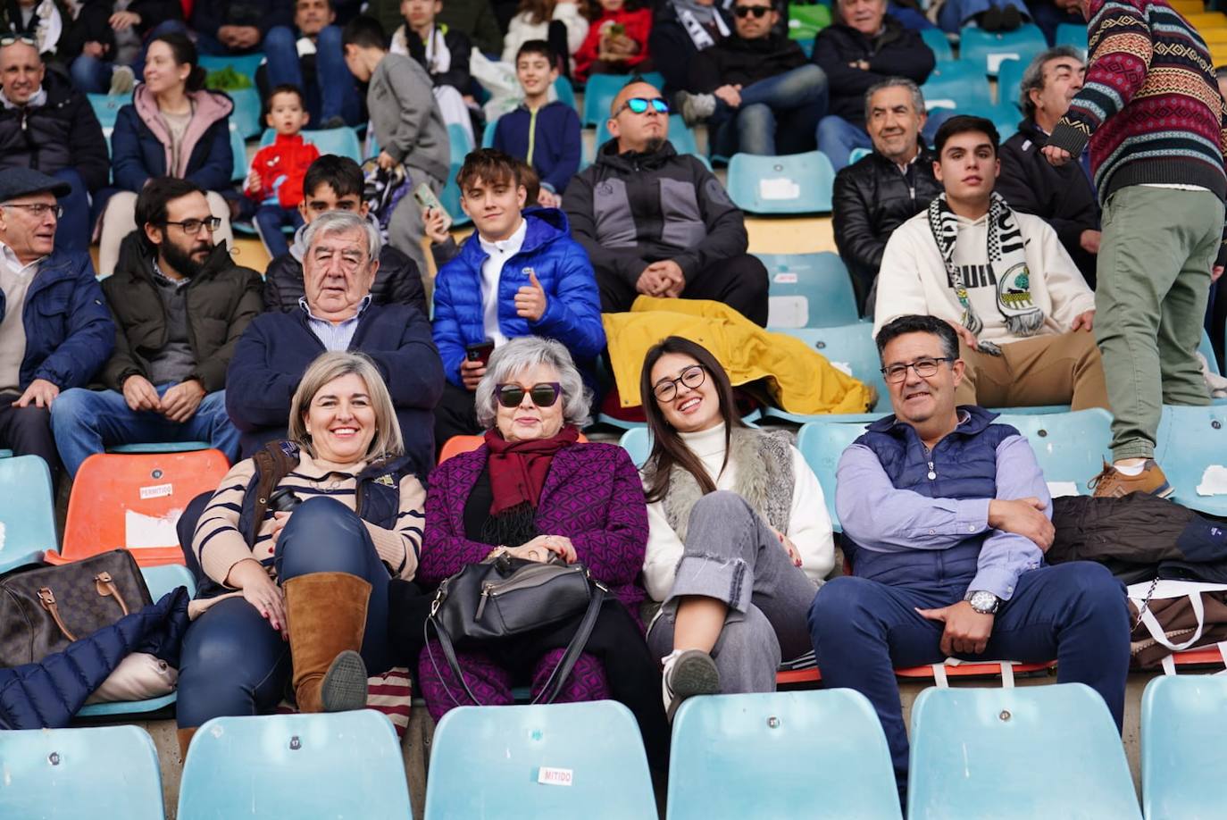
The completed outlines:
<svg viewBox="0 0 1227 820">
<path fill-rule="evenodd" d="M 850 689 L 686 700 L 666 816 L 902 819 L 882 725 Z"/>
</svg>

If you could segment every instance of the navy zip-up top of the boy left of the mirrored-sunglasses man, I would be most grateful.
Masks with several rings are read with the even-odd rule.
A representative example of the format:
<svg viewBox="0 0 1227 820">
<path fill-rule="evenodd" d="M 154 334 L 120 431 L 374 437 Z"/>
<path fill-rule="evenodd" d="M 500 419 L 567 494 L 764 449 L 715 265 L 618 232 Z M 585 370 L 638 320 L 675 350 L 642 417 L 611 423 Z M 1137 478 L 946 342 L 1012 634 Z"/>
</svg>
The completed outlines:
<svg viewBox="0 0 1227 820">
<path fill-rule="evenodd" d="M 499 117 L 494 147 L 528 162 L 544 185 L 562 194 L 579 171 L 579 114 L 567 103 L 555 101 L 537 109 L 535 128 L 533 119 L 524 106 Z"/>
</svg>

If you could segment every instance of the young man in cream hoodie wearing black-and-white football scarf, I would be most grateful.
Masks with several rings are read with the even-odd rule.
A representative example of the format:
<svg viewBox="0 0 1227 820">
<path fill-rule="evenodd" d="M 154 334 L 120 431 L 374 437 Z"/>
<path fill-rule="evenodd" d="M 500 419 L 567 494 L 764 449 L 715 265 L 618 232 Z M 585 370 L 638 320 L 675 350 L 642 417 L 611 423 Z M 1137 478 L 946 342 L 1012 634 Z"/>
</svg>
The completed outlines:
<svg viewBox="0 0 1227 820">
<path fill-rule="evenodd" d="M 908 314 L 950 323 L 966 362 L 958 404 L 1107 408 L 1094 293 L 1047 222 L 994 194 L 998 140 L 979 117 L 937 130 L 934 176 L 945 193 L 891 234 L 874 334 Z"/>
</svg>

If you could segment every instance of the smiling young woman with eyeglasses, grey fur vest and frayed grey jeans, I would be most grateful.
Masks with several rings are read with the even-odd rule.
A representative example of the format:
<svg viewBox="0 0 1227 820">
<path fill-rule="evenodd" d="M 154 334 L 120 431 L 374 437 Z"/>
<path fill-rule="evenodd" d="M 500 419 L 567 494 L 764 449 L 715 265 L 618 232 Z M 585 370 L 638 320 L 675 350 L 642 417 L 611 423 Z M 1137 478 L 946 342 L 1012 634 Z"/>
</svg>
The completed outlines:
<svg viewBox="0 0 1227 820">
<path fill-rule="evenodd" d="M 648 646 L 669 714 L 692 695 L 774 691 L 780 660 L 810 649 L 806 614 L 834 566 L 818 479 L 783 435 L 741 422 L 702 345 L 669 336 L 639 384 L 653 438 L 643 579 L 664 603 Z"/>
</svg>

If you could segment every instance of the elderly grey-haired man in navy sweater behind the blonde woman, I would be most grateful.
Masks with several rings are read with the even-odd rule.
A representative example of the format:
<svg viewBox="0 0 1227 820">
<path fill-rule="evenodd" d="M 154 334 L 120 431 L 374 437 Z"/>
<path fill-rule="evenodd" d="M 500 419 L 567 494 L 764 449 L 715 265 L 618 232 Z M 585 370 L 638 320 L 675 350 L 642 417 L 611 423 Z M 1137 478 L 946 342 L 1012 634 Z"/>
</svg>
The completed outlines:
<svg viewBox="0 0 1227 820">
<path fill-rule="evenodd" d="M 432 411 L 443 392 L 443 363 L 431 324 L 407 304 L 375 304 L 379 230 L 350 211 L 321 214 L 303 233 L 306 296 L 293 313 L 255 318 L 226 373 L 226 409 L 242 431 L 242 458 L 286 437 L 290 400 L 307 367 L 325 350 L 369 356 L 383 374 L 420 475 L 434 464 Z"/>
</svg>

